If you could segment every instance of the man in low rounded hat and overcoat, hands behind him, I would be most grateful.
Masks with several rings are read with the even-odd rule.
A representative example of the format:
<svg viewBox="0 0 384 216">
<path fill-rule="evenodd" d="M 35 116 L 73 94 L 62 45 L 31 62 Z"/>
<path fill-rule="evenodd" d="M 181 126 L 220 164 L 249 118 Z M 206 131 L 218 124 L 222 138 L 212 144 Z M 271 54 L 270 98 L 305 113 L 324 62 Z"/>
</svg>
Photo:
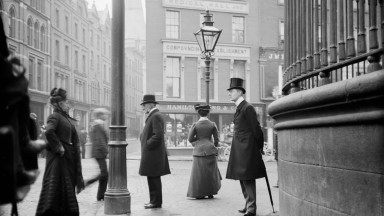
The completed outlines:
<svg viewBox="0 0 384 216">
<path fill-rule="evenodd" d="M 163 195 L 161 176 L 171 174 L 164 142 L 164 119 L 156 108 L 155 95 L 144 95 L 141 106 L 147 114 L 141 133 L 141 160 L 139 174 L 147 176 L 149 203 L 144 208 L 161 208 Z"/>
</svg>

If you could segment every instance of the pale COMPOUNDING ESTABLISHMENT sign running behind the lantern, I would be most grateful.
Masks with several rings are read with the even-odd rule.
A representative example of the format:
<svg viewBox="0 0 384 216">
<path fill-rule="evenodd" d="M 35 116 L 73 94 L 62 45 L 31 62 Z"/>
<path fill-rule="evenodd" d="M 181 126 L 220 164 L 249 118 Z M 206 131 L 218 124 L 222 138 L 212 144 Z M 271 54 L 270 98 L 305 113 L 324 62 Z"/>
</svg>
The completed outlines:
<svg viewBox="0 0 384 216">
<path fill-rule="evenodd" d="M 200 55 L 200 48 L 197 44 L 163 42 L 163 52 L 172 55 Z M 217 46 L 215 57 L 249 58 L 250 48 L 235 46 Z"/>
</svg>

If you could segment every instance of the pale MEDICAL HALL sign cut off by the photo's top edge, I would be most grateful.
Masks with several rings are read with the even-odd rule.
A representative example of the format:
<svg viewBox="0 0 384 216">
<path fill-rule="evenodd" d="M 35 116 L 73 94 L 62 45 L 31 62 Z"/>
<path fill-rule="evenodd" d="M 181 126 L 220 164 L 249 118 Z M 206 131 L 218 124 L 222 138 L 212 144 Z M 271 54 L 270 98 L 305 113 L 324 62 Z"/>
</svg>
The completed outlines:
<svg viewBox="0 0 384 216">
<path fill-rule="evenodd" d="M 186 8 L 196 10 L 207 10 L 230 12 L 230 13 L 249 13 L 248 2 L 220 2 L 206 0 L 163 0 L 164 7 Z"/>
</svg>

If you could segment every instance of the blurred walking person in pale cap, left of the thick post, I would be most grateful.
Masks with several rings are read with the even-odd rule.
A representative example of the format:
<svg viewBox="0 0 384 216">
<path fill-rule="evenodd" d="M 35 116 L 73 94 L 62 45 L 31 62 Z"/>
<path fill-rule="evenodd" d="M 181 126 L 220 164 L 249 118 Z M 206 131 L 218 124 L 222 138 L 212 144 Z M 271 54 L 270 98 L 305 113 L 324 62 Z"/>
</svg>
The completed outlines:
<svg viewBox="0 0 384 216">
<path fill-rule="evenodd" d="M 104 108 L 96 108 L 93 110 L 93 125 L 89 133 L 92 143 L 92 157 L 96 159 L 100 168 L 100 174 L 93 179 L 87 181 L 90 184 L 99 180 L 99 188 L 97 190 L 97 201 L 104 200 L 104 194 L 108 184 L 108 168 L 106 158 L 108 156 L 108 133 L 105 129 L 104 122 L 108 117 L 108 110 Z"/>
</svg>

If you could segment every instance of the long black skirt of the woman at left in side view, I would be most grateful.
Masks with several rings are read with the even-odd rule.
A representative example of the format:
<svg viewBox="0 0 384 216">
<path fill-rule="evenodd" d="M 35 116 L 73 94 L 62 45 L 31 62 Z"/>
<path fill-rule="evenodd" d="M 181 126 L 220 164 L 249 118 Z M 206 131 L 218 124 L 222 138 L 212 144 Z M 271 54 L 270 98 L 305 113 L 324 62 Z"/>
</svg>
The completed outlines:
<svg viewBox="0 0 384 216">
<path fill-rule="evenodd" d="M 47 151 L 43 185 L 36 216 L 77 216 L 79 206 L 76 199 L 76 150 L 63 144 L 65 153 Z"/>
</svg>

